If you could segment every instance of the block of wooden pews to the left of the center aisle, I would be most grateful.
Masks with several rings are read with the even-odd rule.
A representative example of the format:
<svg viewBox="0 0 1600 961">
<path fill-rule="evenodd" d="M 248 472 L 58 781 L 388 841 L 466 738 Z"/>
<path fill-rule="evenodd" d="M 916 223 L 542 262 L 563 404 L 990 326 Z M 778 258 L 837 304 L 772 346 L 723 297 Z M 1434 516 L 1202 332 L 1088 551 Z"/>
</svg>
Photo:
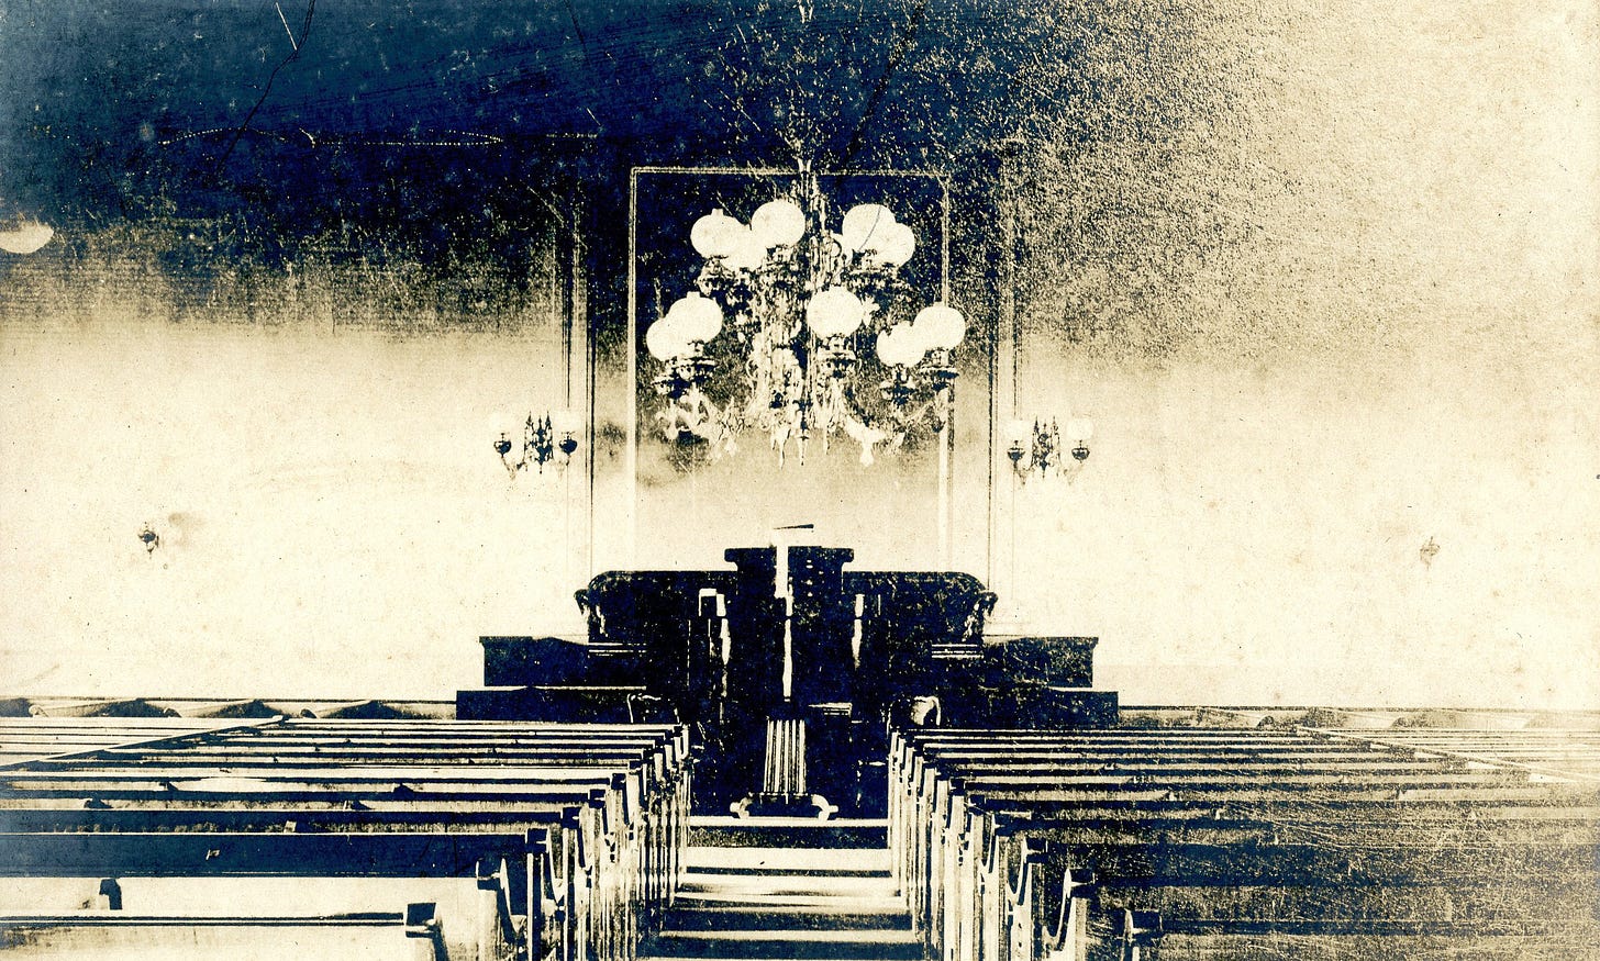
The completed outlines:
<svg viewBox="0 0 1600 961">
<path fill-rule="evenodd" d="M 0 903 L 22 908 L 0 927 L 37 953 L 112 929 L 192 937 L 152 910 L 174 899 L 214 935 L 259 927 L 240 905 L 285 892 L 371 907 L 410 892 L 474 918 L 448 939 L 438 919 L 411 932 L 440 956 L 629 961 L 670 905 L 688 792 L 686 732 L 667 726 L 274 720 L 62 753 L 0 769 L 0 846 L 16 852 L 0 873 L 24 899 Z M 144 921 L 40 913 L 74 876 Z M 317 881 L 283 887 L 294 878 Z"/>
</svg>

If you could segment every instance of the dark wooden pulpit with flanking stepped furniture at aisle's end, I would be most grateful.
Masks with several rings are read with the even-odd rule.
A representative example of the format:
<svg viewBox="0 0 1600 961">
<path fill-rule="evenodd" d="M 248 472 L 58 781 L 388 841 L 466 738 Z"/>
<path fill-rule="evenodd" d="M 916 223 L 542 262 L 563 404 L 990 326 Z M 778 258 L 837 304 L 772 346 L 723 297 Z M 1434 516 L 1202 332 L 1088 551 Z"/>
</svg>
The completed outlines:
<svg viewBox="0 0 1600 961">
<path fill-rule="evenodd" d="M 878 815 L 888 724 L 1106 724 L 1094 638 L 994 636 L 970 574 L 848 571 L 850 548 L 741 547 L 731 569 L 608 571 L 584 638 L 483 638 L 461 718 L 682 721 L 701 812 Z"/>
</svg>

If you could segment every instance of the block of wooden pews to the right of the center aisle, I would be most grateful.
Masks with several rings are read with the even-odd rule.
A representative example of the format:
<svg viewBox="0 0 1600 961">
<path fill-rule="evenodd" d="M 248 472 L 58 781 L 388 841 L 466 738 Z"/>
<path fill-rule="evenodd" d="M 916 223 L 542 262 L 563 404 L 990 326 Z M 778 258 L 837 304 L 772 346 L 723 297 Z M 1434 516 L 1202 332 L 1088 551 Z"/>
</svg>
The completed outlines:
<svg viewBox="0 0 1600 961">
<path fill-rule="evenodd" d="M 1582 777 L 1299 732 L 933 729 L 896 734 L 890 779 L 896 875 L 946 961 L 1600 943 Z"/>
</svg>

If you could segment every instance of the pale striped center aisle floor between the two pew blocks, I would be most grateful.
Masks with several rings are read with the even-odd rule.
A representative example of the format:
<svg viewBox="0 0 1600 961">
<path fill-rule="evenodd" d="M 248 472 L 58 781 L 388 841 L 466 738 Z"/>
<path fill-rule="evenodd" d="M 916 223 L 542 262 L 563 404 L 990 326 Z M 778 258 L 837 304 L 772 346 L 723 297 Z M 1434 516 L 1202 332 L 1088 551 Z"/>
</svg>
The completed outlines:
<svg viewBox="0 0 1600 961">
<path fill-rule="evenodd" d="M 840 847 L 848 839 L 826 828 L 779 833 L 782 847 L 749 846 L 758 828 L 696 830 L 675 905 L 640 961 L 922 958 L 885 847 Z"/>
</svg>

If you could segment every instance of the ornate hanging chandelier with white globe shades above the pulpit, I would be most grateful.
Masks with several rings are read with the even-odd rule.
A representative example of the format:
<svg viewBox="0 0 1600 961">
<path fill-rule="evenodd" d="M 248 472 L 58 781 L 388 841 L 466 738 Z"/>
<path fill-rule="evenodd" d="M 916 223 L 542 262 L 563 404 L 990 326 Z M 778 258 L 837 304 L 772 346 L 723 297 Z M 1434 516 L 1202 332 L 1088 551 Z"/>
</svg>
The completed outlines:
<svg viewBox="0 0 1600 961">
<path fill-rule="evenodd" d="M 917 237 L 888 206 L 851 206 L 835 229 L 802 171 L 749 222 L 699 217 L 690 243 L 704 257 L 696 289 L 645 333 L 662 440 L 715 457 L 760 435 L 779 465 L 790 445 L 803 464 L 810 441 L 827 451 L 838 435 L 862 464 L 928 429 L 942 440 L 966 320 L 942 301 L 912 313 L 901 273 Z"/>
</svg>

